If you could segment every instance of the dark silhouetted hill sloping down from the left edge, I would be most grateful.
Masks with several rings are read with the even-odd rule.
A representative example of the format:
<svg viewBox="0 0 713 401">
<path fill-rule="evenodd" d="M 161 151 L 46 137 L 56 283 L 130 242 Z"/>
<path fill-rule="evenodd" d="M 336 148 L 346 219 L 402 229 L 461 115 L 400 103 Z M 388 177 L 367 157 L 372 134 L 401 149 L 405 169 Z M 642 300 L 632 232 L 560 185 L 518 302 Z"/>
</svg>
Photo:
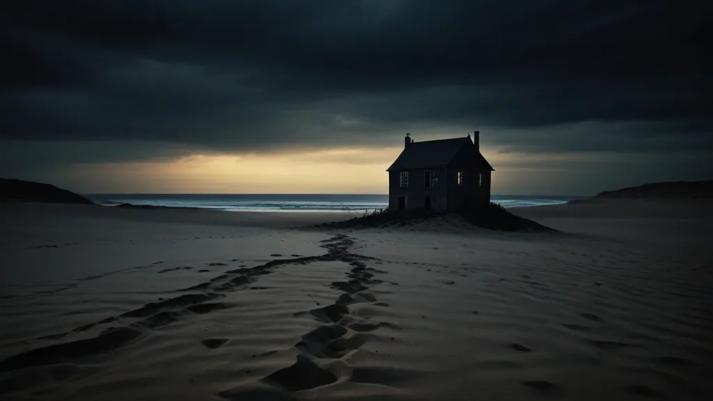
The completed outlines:
<svg viewBox="0 0 713 401">
<path fill-rule="evenodd" d="M 94 205 L 81 195 L 50 184 L 0 178 L 0 202 L 78 203 Z"/>
</svg>

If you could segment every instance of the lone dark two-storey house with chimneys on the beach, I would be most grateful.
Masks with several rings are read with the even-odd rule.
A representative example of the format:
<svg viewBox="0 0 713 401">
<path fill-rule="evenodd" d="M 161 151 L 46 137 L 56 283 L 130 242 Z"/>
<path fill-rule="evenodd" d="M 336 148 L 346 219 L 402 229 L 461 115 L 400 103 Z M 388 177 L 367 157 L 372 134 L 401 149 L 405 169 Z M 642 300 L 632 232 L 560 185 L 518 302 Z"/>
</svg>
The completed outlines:
<svg viewBox="0 0 713 401">
<path fill-rule="evenodd" d="M 389 209 L 461 210 L 490 202 L 493 166 L 480 152 L 480 132 L 462 138 L 414 142 L 389 172 Z"/>
</svg>

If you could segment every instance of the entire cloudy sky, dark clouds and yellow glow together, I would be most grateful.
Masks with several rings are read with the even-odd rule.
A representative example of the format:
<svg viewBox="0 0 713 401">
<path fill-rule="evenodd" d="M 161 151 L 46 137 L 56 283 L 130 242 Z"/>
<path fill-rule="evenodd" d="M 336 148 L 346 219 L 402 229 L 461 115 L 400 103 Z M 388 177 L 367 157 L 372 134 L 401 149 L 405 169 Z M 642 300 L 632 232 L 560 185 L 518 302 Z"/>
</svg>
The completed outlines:
<svg viewBox="0 0 713 401">
<path fill-rule="evenodd" d="M 713 178 L 704 1 L 6 3 L 0 176 L 386 193 L 404 133 L 479 130 L 494 193 Z"/>
</svg>

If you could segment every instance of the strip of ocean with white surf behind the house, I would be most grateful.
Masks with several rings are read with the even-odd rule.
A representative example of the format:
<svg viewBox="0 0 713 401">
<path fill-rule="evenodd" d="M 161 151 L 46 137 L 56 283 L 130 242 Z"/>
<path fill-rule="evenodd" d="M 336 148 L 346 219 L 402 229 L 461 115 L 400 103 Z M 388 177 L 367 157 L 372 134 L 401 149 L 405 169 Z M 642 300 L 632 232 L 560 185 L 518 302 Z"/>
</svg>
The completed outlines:
<svg viewBox="0 0 713 401">
<path fill-rule="evenodd" d="M 228 211 L 282 212 L 364 212 L 384 209 L 389 205 L 386 195 L 210 195 L 210 194 L 98 194 L 86 195 L 101 205 L 155 205 L 205 208 Z M 577 196 L 492 196 L 504 208 L 559 205 Z"/>
</svg>

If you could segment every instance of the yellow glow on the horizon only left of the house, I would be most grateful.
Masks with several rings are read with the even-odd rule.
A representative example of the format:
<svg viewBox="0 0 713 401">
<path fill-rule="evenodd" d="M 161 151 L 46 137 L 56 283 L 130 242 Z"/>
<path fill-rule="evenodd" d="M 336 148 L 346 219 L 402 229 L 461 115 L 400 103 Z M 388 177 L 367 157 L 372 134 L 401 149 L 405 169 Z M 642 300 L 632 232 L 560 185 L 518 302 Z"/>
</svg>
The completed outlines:
<svg viewBox="0 0 713 401">
<path fill-rule="evenodd" d="M 386 168 L 400 152 L 401 148 L 336 148 L 194 154 L 173 161 L 74 166 L 66 173 L 91 183 L 97 193 L 386 193 Z"/>
</svg>

